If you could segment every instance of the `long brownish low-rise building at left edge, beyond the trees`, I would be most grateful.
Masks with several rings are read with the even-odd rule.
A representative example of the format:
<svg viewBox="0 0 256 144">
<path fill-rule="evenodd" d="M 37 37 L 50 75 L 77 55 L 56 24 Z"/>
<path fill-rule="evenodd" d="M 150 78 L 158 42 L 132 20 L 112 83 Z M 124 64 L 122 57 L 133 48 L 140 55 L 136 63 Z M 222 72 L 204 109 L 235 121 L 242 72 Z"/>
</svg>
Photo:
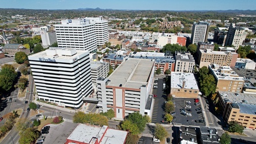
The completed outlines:
<svg viewBox="0 0 256 144">
<path fill-rule="evenodd" d="M 25 52 L 25 54 L 30 54 L 30 50 L 22 46 L 22 44 L 5 44 L 3 47 L 3 52 L 9 55 L 15 55 L 16 52 Z"/>
</svg>

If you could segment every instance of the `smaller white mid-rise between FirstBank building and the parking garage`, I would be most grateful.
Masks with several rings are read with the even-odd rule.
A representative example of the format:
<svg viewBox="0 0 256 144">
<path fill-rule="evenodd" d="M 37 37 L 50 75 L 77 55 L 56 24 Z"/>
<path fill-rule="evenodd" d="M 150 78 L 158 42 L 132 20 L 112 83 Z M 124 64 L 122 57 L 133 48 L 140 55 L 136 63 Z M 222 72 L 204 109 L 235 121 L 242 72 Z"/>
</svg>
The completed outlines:
<svg viewBox="0 0 256 144">
<path fill-rule="evenodd" d="M 93 83 L 96 83 L 96 80 L 99 77 L 106 78 L 108 76 L 108 72 L 110 72 L 109 63 L 103 62 L 103 60 L 91 60 L 90 65 Z"/>
</svg>

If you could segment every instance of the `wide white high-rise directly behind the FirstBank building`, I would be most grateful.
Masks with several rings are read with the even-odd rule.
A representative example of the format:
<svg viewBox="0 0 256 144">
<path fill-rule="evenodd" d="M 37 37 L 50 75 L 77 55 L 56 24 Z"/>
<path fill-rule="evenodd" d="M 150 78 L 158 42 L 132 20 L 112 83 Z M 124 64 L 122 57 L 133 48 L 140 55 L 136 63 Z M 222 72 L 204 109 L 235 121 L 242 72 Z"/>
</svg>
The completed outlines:
<svg viewBox="0 0 256 144">
<path fill-rule="evenodd" d="M 59 47 L 90 52 L 97 50 L 94 23 L 85 19 L 62 20 L 61 24 L 55 25 L 55 29 Z"/>
</svg>

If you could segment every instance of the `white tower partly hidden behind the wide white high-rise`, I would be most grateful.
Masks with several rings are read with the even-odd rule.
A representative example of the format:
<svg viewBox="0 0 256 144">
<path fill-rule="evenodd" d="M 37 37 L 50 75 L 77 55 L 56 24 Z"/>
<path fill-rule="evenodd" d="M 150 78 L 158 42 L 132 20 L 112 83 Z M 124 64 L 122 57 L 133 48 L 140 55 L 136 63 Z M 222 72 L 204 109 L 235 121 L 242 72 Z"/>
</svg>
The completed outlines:
<svg viewBox="0 0 256 144">
<path fill-rule="evenodd" d="M 95 24 L 97 46 L 103 46 L 108 42 L 109 35 L 107 20 L 103 20 L 103 17 L 85 17 L 85 20 L 89 20 L 92 24 Z"/>
</svg>

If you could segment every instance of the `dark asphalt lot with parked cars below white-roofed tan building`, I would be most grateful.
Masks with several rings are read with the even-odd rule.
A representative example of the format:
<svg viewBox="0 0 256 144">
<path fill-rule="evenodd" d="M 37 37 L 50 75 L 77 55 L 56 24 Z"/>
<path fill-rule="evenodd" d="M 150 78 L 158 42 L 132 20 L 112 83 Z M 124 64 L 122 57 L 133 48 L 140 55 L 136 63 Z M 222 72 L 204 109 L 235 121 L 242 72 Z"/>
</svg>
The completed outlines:
<svg viewBox="0 0 256 144">
<path fill-rule="evenodd" d="M 186 103 L 187 101 L 187 103 Z M 190 103 L 188 103 L 190 101 Z M 201 108 L 200 105 L 195 105 L 193 98 L 175 98 L 175 117 L 174 120 L 172 120 L 172 123 L 174 124 L 184 124 L 188 126 L 205 126 L 205 122 L 195 122 L 195 120 L 203 120 L 204 116 L 201 112 L 202 110 L 196 111 L 195 109 Z M 185 114 L 181 114 L 180 109 L 185 110 Z"/>
</svg>

